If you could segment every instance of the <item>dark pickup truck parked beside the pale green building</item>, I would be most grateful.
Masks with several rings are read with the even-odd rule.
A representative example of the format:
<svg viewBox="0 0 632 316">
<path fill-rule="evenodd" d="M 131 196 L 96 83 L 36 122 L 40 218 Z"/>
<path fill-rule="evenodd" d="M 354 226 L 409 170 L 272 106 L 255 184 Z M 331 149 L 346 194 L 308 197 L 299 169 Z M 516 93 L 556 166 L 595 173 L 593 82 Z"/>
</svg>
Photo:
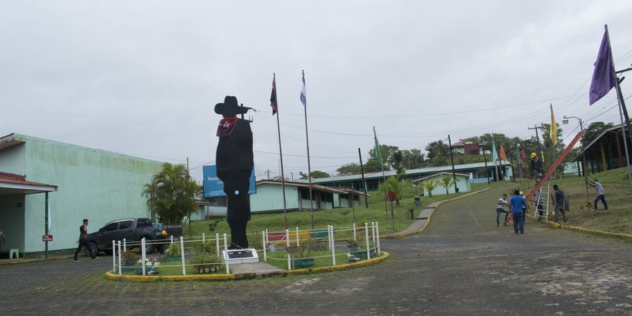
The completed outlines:
<svg viewBox="0 0 632 316">
<path fill-rule="evenodd" d="M 120 220 L 112 220 L 99 228 L 98 232 L 88 234 L 88 245 L 93 254 L 104 251 L 106 254 L 112 254 L 112 240 L 126 242 L 140 242 L 145 237 L 146 242 L 156 239 L 157 228 L 154 228 L 152 220 L 149 218 L 126 218 Z M 155 244 L 147 243 L 145 252 L 151 254 L 154 252 Z M 127 248 L 131 248 L 127 246 Z"/>
</svg>

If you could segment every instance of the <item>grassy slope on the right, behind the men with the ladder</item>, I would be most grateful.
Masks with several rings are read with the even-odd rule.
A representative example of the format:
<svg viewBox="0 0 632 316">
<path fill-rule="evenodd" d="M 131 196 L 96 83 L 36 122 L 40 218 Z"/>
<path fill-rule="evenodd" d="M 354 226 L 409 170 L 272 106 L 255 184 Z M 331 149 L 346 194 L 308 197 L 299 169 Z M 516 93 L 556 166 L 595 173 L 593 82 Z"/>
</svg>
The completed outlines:
<svg viewBox="0 0 632 316">
<path fill-rule="evenodd" d="M 597 178 L 603 185 L 605 199 L 608 202 L 607 211 L 603 209 L 601 202 L 598 204 L 598 211 L 593 211 L 593 201 L 597 197 L 595 188 L 588 186 L 588 198 L 586 198 L 584 178 L 580 178 L 577 174 L 551 180 L 551 194 L 553 185 L 557 184 L 560 190 L 570 196 L 570 211 L 566 214 L 568 225 L 632 235 L 632 203 L 630 202 L 632 189 L 628 180 L 628 169 L 619 168 L 593 173 L 588 178 L 591 180 Z M 531 189 L 533 185 L 534 183 L 529 183 L 525 189 Z M 553 209 L 553 206 L 549 206 L 549 209 Z"/>
</svg>

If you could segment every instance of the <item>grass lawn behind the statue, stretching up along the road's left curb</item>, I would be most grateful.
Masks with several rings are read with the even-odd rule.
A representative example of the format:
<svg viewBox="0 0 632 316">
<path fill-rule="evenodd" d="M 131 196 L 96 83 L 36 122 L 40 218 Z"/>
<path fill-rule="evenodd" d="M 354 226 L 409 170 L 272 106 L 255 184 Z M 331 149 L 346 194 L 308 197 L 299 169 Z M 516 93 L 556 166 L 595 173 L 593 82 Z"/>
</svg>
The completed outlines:
<svg viewBox="0 0 632 316">
<path fill-rule="evenodd" d="M 487 183 L 473 184 L 472 191 L 482 190 L 487 187 L 495 187 L 499 185 L 506 185 L 506 183 Z M 390 234 L 392 232 L 400 232 L 407 228 L 412 219 L 409 217 L 408 210 L 414 209 L 414 216 L 419 215 L 423 206 L 427 206 L 430 203 L 442 201 L 445 199 L 452 199 L 459 195 L 464 195 L 469 192 L 452 193 L 450 195 L 436 195 L 437 192 L 445 192 L 445 188 L 437 187 L 433 197 L 421 197 L 421 207 L 414 207 L 414 187 L 407 187 L 404 190 L 400 205 L 397 206 L 393 202 L 393 218 L 390 216 L 390 202 L 384 203 L 383 195 L 378 192 L 370 192 L 369 208 L 364 207 L 364 198 L 360 198 L 361 206 L 341 209 L 329 209 L 322 211 L 314 211 L 314 228 L 315 229 L 327 229 L 327 225 L 333 225 L 334 228 L 350 228 L 353 223 L 356 226 L 364 226 L 364 223 L 378 222 L 380 228 L 380 234 Z M 222 218 L 216 225 L 214 230 L 209 229 L 209 224 L 216 223 L 217 220 L 194 220 L 191 223 L 191 235 L 202 236 L 204 232 L 206 235 L 215 235 L 219 233 L 220 236 L 225 234 L 230 235 L 230 228 L 226 223 L 225 218 Z M 312 229 L 312 215 L 310 211 L 289 211 L 287 213 L 287 223 L 290 231 L 296 230 L 311 230 Z M 393 229 L 395 225 L 395 229 Z M 248 232 L 252 235 L 249 237 L 249 242 L 254 246 L 260 246 L 261 244 L 261 232 L 263 230 L 269 232 L 282 232 L 285 231 L 284 214 L 279 213 L 253 213 L 251 220 L 248 223 Z M 189 225 L 183 225 L 183 235 L 189 236 Z"/>
</svg>

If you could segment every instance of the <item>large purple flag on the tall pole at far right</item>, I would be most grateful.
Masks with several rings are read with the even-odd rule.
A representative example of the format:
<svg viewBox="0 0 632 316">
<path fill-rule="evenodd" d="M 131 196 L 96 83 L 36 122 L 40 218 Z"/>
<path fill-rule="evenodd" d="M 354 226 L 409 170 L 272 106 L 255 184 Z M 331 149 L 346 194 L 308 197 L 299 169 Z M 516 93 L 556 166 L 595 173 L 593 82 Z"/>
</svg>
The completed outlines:
<svg viewBox="0 0 632 316">
<path fill-rule="evenodd" d="M 612 62 L 612 53 L 610 53 L 610 39 L 608 39 L 608 31 L 606 29 L 601 40 L 597 61 L 595 62 L 595 71 L 593 72 L 593 81 L 591 82 L 591 90 L 589 99 L 591 105 L 605 96 L 614 87 L 614 62 Z"/>
</svg>

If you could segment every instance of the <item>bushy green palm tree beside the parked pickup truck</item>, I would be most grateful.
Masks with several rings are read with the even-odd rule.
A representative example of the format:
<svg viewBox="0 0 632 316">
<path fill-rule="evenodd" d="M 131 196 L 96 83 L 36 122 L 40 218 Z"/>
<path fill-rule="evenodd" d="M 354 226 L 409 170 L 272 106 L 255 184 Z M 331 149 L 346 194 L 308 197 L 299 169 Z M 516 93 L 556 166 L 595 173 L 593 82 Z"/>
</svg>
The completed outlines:
<svg viewBox="0 0 632 316">
<path fill-rule="evenodd" d="M 164 217 L 167 225 L 180 224 L 185 216 L 197 212 L 195 197 L 202 197 L 204 192 L 202 185 L 190 177 L 184 164 L 169 162 L 162 164 L 162 170 L 143 187 L 147 205 Z"/>
</svg>

